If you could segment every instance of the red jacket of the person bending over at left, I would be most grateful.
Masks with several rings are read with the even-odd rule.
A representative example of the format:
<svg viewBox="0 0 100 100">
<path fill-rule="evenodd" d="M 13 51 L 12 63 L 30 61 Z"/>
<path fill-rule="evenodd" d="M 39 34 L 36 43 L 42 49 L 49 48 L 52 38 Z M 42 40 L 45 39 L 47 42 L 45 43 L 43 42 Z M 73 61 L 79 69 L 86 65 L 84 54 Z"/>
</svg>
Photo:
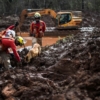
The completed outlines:
<svg viewBox="0 0 100 100">
<path fill-rule="evenodd" d="M 20 56 L 16 50 L 15 40 L 10 39 L 10 38 L 2 38 L 1 43 L 2 43 L 3 51 L 9 52 L 8 48 L 11 48 L 17 61 L 20 61 Z"/>
</svg>

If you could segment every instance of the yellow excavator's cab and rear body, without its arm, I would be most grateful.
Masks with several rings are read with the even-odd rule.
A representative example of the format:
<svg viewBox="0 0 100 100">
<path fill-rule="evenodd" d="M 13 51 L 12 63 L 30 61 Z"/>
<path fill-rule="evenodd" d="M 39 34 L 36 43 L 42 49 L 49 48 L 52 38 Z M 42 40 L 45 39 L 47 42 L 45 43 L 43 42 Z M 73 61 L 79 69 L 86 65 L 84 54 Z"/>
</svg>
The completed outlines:
<svg viewBox="0 0 100 100">
<path fill-rule="evenodd" d="M 77 29 L 82 22 L 82 14 L 80 11 L 61 11 L 57 13 L 57 20 L 57 29 Z"/>
</svg>

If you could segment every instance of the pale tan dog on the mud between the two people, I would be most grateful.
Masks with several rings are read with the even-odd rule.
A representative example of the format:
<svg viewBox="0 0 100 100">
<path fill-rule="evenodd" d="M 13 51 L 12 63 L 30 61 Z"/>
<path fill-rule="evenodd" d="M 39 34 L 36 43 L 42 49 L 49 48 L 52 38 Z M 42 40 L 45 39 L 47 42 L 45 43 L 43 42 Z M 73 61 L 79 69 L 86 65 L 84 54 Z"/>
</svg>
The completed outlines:
<svg viewBox="0 0 100 100">
<path fill-rule="evenodd" d="M 25 56 L 25 62 L 29 63 L 30 60 L 41 53 L 41 46 L 38 43 L 34 43 L 33 47 L 29 50 L 27 55 Z"/>
</svg>

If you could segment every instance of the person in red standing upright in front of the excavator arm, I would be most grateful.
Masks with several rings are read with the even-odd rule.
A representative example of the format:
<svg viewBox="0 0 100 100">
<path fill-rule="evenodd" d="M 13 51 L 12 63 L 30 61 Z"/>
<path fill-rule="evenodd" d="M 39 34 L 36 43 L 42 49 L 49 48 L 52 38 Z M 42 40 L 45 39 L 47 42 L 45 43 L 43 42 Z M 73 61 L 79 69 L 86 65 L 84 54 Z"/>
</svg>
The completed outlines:
<svg viewBox="0 0 100 100">
<path fill-rule="evenodd" d="M 44 36 L 44 32 L 46 30 L 46 24 L 44 21 L 41 20 L 40 13 L 36 12 L 34 14 L 34 21 L 30 25 L 30 35 L 34 36 L 42 46 L 42 37 Z M 34 38 L 33 38 L 34 39 Z"/>
</svg>

